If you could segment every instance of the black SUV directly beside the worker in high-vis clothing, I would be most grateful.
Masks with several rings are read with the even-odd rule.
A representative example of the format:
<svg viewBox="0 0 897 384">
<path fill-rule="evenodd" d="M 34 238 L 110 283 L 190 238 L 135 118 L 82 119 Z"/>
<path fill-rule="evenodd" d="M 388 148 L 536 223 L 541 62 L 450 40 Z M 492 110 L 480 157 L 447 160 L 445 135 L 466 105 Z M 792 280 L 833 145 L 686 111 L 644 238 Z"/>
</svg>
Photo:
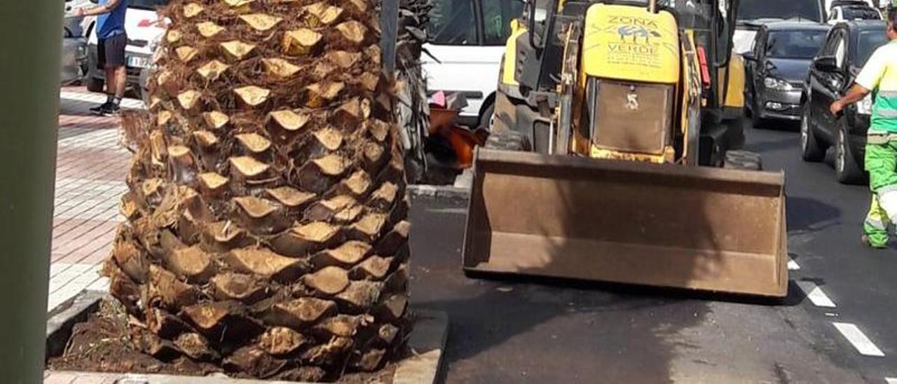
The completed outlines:
<svg viewBox="0 0 897 384">
<path fill-rule="evenodd" d="M 825 150 L 835 147 L 838 181 L 858 184 L 866 180 L 863 156 L 866 131 L 872 114 L 871 95 L 832 116 L 829 106 L 853 85 L 875 48 L 888 42 L 883 21 L 841 22 L 832 27 L 813 61 L 801 100 L 804 114 L 800 145 L 805 161 L 822 161 Z"/>
</svg>

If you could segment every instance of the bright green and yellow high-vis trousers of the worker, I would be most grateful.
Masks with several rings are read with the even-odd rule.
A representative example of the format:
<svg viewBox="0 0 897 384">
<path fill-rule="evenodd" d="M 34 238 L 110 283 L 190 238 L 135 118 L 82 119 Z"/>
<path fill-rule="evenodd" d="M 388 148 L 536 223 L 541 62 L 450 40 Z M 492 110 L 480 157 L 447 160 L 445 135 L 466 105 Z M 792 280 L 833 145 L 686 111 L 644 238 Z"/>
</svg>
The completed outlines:
<svg viewBox="0 0 897 384">
<path fill-rule="evenodd" d="M 863 231 L 869 244 L 884 248 L 888 242 L 888 224 L 897 219 L 897 140 L 875 143 L 870 135 L 866 144 L 866 170 L 869 172 L 869 188 L 872 204 Z"/>
</svg>

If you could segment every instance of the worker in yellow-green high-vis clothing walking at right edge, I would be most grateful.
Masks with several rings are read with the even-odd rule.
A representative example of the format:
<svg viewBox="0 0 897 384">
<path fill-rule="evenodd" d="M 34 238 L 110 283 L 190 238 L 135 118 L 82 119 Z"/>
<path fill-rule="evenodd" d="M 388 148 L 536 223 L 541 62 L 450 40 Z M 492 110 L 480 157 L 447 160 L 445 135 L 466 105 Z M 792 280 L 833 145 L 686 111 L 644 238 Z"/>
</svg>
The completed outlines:
<svg viewBox="0 0 897 384">
<path fill-rule="evenodd" d="M 888 9 L 888 39 L 875 50 L 853 87 L 832 102 L 832 115 L 874 92 L 872 119 L 867 134 L 866 170 L 872 188 L 872 206 L 863 225 L 863 243 L 884 249 L 888 225 L 897 221 L 897 9 Z"/>
</svg>

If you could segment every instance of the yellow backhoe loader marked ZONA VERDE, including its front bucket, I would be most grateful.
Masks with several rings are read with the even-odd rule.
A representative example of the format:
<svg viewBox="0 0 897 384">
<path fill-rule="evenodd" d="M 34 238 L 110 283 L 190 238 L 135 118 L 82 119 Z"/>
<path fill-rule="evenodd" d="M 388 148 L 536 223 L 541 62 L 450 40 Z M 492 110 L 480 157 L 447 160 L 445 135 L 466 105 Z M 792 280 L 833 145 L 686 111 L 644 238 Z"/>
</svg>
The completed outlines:
<svg viewBox="0 0 897 384">
<path fill-rule="evenodd" d="M 466 272 L 783 297 L 784 174 L 739 151 L 737 0 L 529 0 L 477 151 Z"/>
</svg>

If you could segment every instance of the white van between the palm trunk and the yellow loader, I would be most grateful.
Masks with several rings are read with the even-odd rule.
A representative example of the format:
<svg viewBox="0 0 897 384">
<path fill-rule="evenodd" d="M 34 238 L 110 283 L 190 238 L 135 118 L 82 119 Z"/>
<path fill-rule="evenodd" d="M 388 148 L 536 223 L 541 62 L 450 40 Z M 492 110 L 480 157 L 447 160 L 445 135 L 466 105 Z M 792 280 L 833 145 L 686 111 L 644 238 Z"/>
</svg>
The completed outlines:
<svg viewBox="0 0 897 384">
<path fill-rule="evenodd" d="M 427 90 L 462 92 L 462 123 L 477 127 L 492 118 L 495 90 L 510 21 L 523 14 L 522 0 L 431 0 L 424 48 Z M 433 59 L 436 58 L 436 60 Z M 438 61 L 437 61 L 438 60 Z"/>
</svg>

